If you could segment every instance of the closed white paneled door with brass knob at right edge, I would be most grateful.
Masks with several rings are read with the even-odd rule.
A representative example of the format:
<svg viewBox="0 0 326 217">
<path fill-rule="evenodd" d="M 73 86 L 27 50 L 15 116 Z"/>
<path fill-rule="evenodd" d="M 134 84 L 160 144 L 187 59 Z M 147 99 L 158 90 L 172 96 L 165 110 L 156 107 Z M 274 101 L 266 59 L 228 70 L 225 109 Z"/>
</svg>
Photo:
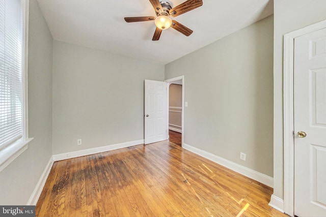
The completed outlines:
<svg viewBox="0 0 326 217">
<path fill-rule="evenodd" d="M 294 214 L 326 216 L 326 29 L 294 39 Z"/>
</svg>

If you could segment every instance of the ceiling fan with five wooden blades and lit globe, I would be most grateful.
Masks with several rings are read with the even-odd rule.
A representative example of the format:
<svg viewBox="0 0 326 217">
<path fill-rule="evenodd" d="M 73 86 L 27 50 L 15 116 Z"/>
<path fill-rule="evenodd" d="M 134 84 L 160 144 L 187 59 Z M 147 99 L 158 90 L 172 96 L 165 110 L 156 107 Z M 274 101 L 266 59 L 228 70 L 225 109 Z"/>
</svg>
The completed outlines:
<svg viewBox="0 0 326 217">
<path fill-rule="evenodd" d="M 152 4 L 156 12 L 156 18 L 153 16 L 125 17 L 124 20 L 126 22 L 141 22 L 154 20 L 156 29 L 152 41 L 157 41 L 162 33 L 162 30 L 167 29 L 170 26 L 178 32 L 182 33 L 183 35 L 190 36 L 193 33 L 193 30 L 175 20 L 172 20 L 170 16 L 176 17 L 203 5 L 202 0 L 188 0 L 174 8 L 172 8 L 169 2 L 165 1 L 160 2 L 159 0 L 149 0 L 149 2 Z"/>
</svg>

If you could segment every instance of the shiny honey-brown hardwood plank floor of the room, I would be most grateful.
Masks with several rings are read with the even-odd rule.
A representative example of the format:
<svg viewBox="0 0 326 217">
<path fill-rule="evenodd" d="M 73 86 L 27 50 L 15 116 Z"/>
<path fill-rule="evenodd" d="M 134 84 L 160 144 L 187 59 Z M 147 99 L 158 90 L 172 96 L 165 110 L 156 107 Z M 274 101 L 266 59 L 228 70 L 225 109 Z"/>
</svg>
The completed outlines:
<svg viewBox="0 0 326 217">
<path fill-rule="evenodd" d="M 272 193 L 163 141 L 55 162 L 36 216 L 287 216 Z"/>
</svg>

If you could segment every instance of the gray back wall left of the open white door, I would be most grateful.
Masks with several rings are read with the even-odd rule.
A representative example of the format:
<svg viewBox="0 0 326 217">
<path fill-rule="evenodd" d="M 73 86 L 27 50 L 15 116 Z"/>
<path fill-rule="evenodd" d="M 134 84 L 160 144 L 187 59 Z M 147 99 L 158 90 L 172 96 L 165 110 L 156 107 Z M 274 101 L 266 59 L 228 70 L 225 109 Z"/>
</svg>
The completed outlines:
<svg viewBox="0 0 326 217">
<path fill-rule="evenodd" d="M 144 139 L 144 79 L 164 65 L 53 41 L 53 154 Z"/>
</svg>

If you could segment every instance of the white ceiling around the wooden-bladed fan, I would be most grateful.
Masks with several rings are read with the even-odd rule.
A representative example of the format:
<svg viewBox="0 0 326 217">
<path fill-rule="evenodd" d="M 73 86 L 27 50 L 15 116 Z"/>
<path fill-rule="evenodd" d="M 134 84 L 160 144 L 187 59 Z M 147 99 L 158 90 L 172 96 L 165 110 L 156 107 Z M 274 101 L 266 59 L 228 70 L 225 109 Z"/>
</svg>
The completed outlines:
<svg viewBox="0 0 326 217">
<path fill-rule="evenodd" d="M 168 0 L 175 7 L 185 0 Z M 148 0 L 38 0 L 53 39 L 167 64 L 273 14 L 273 0 L 203 0 L 203 6 L 173 19 L 194 30 L 173 28 L 152 41 L 156 16 Z"/>
</svg>

